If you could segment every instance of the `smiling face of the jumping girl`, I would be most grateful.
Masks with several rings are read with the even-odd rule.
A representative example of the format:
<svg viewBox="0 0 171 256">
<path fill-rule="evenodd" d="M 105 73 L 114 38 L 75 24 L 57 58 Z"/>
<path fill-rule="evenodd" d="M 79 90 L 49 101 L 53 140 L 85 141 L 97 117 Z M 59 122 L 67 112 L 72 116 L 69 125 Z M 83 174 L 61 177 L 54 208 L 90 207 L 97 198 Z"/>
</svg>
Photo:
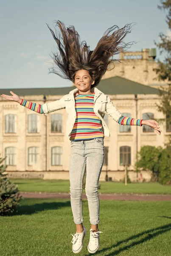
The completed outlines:
<svg viewBox="0 0 171 256">
<path fill-rule="evenodd" d="M 90 89 L 94 82 L 87 70 L 78 70 L 76 72 L 74 84 L 80 94 L 91 94 Z"/>
</svg>

